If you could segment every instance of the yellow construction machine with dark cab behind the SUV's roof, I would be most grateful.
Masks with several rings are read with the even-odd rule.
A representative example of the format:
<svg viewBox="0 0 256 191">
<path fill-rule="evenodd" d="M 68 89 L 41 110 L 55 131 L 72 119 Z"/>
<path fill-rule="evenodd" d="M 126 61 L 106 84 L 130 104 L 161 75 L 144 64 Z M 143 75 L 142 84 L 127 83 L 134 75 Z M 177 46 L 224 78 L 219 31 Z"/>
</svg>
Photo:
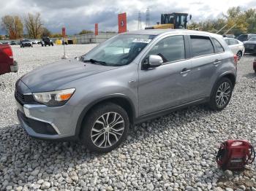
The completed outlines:
<svg viewBox="0 0 256 191">
<path fill-rule="evenodd" d="M 167 29 L 167 28 L 187 28 L 188 22 L 187 13 L 173 12 L 161 15 L 161 23 L 157 23 L 155 26 L 148 26 L 145 29 Z M 189 20 L 191 19 L 189 15 Z"/>
</svg>

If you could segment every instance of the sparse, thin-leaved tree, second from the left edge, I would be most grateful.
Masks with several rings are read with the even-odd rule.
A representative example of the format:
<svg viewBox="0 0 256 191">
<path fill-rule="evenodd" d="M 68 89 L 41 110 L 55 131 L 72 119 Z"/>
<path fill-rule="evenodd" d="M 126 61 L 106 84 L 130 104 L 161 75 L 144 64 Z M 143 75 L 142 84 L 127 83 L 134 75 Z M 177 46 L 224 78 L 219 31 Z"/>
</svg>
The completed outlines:
<svg viewBox="0 0 256 191">
<path fill-rule="evenodd" d="M 29 13 L 24 17 L 26 30 L 31 38 L 38 39 L 42 34 L 41 15 L 37 12 L 35 15 Z"/>
</svg>

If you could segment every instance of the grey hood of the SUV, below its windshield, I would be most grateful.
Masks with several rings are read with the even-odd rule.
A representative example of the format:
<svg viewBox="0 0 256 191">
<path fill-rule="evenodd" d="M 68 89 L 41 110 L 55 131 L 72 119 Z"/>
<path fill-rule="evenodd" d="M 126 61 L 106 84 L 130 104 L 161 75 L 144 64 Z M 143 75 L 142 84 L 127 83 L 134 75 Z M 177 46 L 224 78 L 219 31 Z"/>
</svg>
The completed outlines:
<svg viewBox="0 0 256 191">
<path fill-rule="evenodd" d="M 44 92 L 57 90 L 58 87 L 68 82 L 111 69 L 116 69 L 116 67 L 83 63 L 72 59 L 42 66 L 24 75 L 21 80 L 30 88 L 32 93 Z"/>
</svg>

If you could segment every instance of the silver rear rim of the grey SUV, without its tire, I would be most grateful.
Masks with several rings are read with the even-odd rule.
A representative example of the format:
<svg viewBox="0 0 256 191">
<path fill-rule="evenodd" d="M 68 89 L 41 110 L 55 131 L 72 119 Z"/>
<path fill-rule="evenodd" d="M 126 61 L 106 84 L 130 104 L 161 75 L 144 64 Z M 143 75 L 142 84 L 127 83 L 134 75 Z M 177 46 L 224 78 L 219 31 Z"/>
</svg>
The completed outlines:
<svg viewBox="0 0 256 191">
<path fill-rule="evenodd" d="M 231 87 L 230 84 L 227 82 L 223 82 L 219 85 L 216 95 L 216 103 L 219 108 L 224 107 L 228 101 L 230 100 L 231 96 Z"/>
</svg>

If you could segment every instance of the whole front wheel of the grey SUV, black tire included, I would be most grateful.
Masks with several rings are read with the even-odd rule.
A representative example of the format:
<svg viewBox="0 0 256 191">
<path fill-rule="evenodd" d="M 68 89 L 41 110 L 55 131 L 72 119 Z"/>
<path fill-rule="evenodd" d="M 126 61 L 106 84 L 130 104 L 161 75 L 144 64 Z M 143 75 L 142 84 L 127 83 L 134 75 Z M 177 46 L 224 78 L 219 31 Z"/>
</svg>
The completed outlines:
<svg viewBox="0 0 256 191">
<path fill-rule="evenodd" d="M 92 109 L 83 120 L 80 139 L 91 152 L 105 153 L 116 149 L 127 138 L 128 130 L 127 112 L 121 106 L 105 103 Z"/>
</svg>

